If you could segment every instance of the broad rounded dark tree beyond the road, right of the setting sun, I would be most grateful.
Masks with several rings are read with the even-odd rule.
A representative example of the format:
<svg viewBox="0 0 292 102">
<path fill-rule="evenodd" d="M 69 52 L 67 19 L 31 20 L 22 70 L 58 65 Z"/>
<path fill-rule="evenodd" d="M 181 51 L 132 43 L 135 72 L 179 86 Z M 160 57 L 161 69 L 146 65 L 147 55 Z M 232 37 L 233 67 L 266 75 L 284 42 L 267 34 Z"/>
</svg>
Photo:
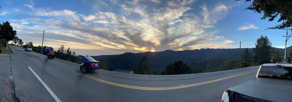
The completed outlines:
<svg viewBox="0 0 292 102">
<path fill-rule="evenodd" d="M 175 62 L 170 62 L 166 65 L 164 70 L 161 71 L 161 75 L 176 75 L 176 74 L 192 74 L 193 70 L 187 63 L 178 60 Z"/>
</svg>

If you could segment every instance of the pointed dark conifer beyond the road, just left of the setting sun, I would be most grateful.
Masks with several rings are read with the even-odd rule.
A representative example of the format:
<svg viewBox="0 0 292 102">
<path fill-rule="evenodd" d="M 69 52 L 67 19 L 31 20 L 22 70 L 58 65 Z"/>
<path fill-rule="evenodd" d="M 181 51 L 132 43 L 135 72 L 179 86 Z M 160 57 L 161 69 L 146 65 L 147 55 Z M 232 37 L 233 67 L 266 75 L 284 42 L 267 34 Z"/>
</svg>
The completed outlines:
<svg viewBox="0 0 292 102">
<path fill-rule="evenodd" d="M 148 64 L 149 60 L 146 56 L 144 56 L 140 60 L 140 65 L 138 66 L 137 74 L 149 74 L 150 69 L 148 68 L 151 64 Z"/>
</svg>

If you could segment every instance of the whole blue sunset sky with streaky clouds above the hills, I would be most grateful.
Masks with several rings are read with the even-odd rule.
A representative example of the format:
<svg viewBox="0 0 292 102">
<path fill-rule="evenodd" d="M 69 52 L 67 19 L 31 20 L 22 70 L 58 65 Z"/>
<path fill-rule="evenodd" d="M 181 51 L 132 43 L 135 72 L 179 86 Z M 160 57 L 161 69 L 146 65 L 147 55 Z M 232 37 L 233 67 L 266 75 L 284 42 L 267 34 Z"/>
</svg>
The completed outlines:
<svg viewBox="0 0 292 102">
<path fill-rule="evenodd" d="M 77 55 L 255 47 L 260 35 L 285 48 L 280 24 L 243 10 L 251 2 L 226 0 L 1 0 L 0 21 L 8 21 L 23 42 Z M 289 31 L 289 34 L 291 31 Z M 10 41 L 9 43 L 12 43 Z M 291 46 L 288 40 L 287 47 Z"/>
</svg>

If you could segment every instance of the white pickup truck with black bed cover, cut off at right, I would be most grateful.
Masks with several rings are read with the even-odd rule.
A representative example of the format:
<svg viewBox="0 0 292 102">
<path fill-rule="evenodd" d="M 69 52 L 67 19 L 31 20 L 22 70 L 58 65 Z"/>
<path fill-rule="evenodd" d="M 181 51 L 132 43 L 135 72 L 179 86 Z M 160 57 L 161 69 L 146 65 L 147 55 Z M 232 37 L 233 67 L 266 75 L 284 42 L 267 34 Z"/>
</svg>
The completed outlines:
<svg viewBox="0 0 292 102">
<path fill-rule="evenodd" d="M 223 92 L 221 102 L 291 102 L 292 65 L 263 64 L 255 78 Z"/>
</svg>

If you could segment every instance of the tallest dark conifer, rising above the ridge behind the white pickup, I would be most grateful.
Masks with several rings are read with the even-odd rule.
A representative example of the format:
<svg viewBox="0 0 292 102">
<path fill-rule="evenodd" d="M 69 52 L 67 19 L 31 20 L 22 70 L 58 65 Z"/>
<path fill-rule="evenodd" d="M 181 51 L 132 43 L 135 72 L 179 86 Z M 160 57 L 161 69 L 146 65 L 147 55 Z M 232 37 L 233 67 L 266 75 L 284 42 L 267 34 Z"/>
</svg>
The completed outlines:
<svg viewBox="0 0 292 102">
<path fill-rule="evenodd" d="M 256 65 L 270 63 L 272 43 L 268 37 L 261 35 L 255 45 L 256 48 L 253 48 L 253 52 L 255 53 L 254 62 L 256 62 Z"/>
</svg>

